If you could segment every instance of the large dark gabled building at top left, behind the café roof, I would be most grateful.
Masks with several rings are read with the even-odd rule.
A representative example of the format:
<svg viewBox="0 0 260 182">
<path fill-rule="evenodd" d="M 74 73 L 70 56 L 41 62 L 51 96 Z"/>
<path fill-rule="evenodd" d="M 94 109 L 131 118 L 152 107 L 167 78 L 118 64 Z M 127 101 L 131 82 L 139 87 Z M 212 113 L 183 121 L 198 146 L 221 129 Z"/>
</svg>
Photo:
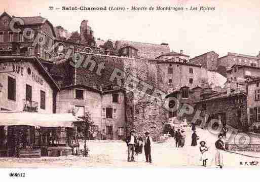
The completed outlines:
<svg viewBox="0 0 260 182">
<path fill-rule="evenodd" d="M 14 32 L 9 27 L 9 23 L 13 18 L 20 18 L 24 23 L 24 25 L 16 24 L 16 26 L 14 26 L 16 29 L 21 30 L 18 33 Z M 26 28 L 31 28 L 33 32 L 24 32 Z M 27 39 L 23 33 L 26 33 L 27 36 L 33 35 L 33 37 Z M 33 45 L 33 42 L 38 43 L 38 40 L 41 38 L 45 40 L 44 45 Z M 53 58 L 53 52 L 47 53 L 45 50 L 51 49 L 55 38 L 56 34 L 53 25 L 46 18 L 41 16 L 11 17 L 6 12 L 0 15 L 0 54 L 2 55 L 8 50 L 12 50 L 12 42 L 17 41 L 21 43 L 21 48 L 25 55 L 36 56 L 37 54 L 40 54 L 42 59 L 49 61 Z"/>
</svg>

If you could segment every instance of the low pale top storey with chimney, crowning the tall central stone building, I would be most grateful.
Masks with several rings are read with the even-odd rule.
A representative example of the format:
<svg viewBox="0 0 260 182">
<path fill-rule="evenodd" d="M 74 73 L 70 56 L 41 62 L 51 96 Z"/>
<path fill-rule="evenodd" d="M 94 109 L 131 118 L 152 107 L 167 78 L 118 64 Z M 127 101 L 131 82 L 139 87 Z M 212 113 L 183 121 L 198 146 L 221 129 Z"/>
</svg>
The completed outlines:
<svg viewBox="0 0 260 182">
<path fill-rule="evenodd" d="M 156 57 L 156 59 L 160 59 L 160 60 L 169 60 L 171 59 L 172 61 L 189 61 L 190 56 L 183 54 L 183 50 L 180 50 L 179 53 L 171 51 L 171 52 L 167 52 L 167 53 L 162 53 L 160 56 Z"/>
</svg>

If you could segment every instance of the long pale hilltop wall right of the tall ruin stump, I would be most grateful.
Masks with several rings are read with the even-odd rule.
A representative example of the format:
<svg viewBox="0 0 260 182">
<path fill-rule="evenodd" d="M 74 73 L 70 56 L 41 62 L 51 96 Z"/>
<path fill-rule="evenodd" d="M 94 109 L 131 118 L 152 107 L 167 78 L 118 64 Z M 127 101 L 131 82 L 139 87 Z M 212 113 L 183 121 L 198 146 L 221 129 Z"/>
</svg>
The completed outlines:
<svg viewBox="0 0 260 182">
<path fill-rule="evenodd" d="M 150 44 L 132 41 L 117 41 L 118 49 L 125 46 L 132 46 L 138 49 L 138 56 L 141 58 L 156 58 L 161 54 L 170 52 L 170 48 L 167 45 Z"/>
</svg>

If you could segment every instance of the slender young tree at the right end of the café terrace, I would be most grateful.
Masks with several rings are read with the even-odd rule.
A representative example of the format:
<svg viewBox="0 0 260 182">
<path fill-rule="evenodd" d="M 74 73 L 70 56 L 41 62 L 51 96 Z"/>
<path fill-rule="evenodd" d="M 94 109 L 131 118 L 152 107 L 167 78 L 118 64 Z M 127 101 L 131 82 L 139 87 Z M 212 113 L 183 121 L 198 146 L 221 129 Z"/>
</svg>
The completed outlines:
<svg viewBox="0 0 260 182">
<path fill-rule="evenodd" d="M 93 125 L 94 122 L 92 121 L 92 118 L 91 118 L 91 115 L 90 115 L 89 112 L 86 112 L 85 116 L 82 119 L 83 120 L 80 124 L 81 125 L 80 127 L 82 128 L 83 135 L 84 135 L 84 156 L 87 157 L 89 150 L 87 149 L 87 144 L 86 144 L 87 141 L 86 140 L 87 140 L 89 133 L 90 133 L 89 128 L 90 128 L 91 125 Z"/>
</svg>

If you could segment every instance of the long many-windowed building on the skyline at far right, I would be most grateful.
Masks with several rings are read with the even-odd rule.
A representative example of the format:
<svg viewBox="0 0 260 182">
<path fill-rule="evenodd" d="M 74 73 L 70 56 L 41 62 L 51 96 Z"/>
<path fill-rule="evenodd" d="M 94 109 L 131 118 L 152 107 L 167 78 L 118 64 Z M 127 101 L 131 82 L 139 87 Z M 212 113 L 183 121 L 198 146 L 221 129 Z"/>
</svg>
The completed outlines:
<svg viewBox="0 0 260 182">
<path fill-rule="evenodd" d="M 259 67 L 259 59 L 260 59 L 259 57 L 255 57 L 255 56 L 229 52 L 228 55 L 217 59 L 217 72 L 227 77 L 226 71 L 234 64 Z"/>
</svg>

